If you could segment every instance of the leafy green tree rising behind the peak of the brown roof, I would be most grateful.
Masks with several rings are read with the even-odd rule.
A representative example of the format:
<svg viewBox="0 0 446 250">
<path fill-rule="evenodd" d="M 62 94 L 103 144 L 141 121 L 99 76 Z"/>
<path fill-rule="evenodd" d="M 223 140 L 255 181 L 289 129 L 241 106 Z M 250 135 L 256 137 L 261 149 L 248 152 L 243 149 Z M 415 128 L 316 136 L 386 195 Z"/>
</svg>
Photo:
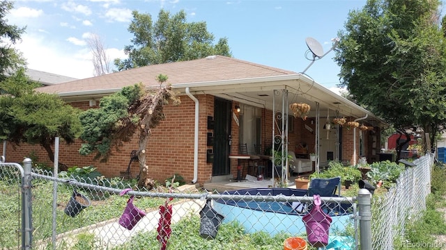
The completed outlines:
<svg viewBox="0 0 446 250">
<path fill-rule="evenodd" d="M 134 35 L 133 44 L 124 48 L 127 59 L 114 60 L 119 71 L 211 55 L 231 56 L 227 38 L 213 45 L 214 35 L 208 32 L 206 22 L 187 23 L 184 10 L 172 16 L 160 10 L 155 23 L 149 14 L 133 11 L 132 15 L 128 31 Z"/>
</svg>

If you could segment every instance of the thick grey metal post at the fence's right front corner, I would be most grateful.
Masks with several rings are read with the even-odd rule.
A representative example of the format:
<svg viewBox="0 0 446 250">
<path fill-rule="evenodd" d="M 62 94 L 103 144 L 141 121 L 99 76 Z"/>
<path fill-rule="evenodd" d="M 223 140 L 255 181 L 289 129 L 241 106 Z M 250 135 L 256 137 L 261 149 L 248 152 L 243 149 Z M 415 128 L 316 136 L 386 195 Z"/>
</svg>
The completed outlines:
<svg viewBox="0 0 446 250">
<path fill-rule="evenodd" d="M 357 206 L 360 215 L 360 247 L 361 250 L 371 250 L 371 194 L 361 188 L 357 192 Z"/>
</svg>

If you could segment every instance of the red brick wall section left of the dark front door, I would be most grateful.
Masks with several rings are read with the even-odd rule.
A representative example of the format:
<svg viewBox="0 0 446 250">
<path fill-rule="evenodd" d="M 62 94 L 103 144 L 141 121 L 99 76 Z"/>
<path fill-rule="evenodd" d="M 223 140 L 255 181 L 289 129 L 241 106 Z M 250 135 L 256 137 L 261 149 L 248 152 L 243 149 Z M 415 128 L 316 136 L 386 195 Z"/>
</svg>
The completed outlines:
<svg viewBox="0 0 446 250">
<path fill-rule="evenodd" d="M 210 180 L 212 175 L 212 164 L 206 163 L 206 133 L 207 116 L 213 115 L 213 96 L 199 95 L 199 171 L 198 181 L 200 183 Z M 90 108 L 89 102 L 71 103 L 72 106 Z M 172 174 L 178 173 L 187 182 L 192 181 L 194 173 L 194 108 L 195 104 L 187 96 L 181 97 L 180 106 L 167 105 L 164 107 L 166 119 L 163 120 L 157 128 L 152 129 L 151 138 L 148 140 L 146 149 L 147 165 L 149 166 L 149 175 L 158 181 L 164 182 Z M 60 142 L 59 162 L 68 165 L 68 167 L 84 167 L 93 165 L 98 167 L 98 171 L 107 177 L 119 176 L 119 172 L 125 171 L 130 160 L 130 152 L 138 149 L 137 135 L 129 143 L 126 143 L 114 151 L 107 163 L 93 161 L 93 156 L 81 156 L 78 153 L 81 142 L 67 146 Z M 3 144 L 1 144 L 3 150 Z M 6 160 L 8 162 L 21 163 L 25 157 L 31 154 L 38 157 L 39 163 L 47 163 L 52 166 L 46 154 L 46 151 L 38 145 L 20 144 L 20 147 L 13 147 L 8 143 L 6 147 Z M 132 176 L 139 173 L 137 162 L 132 163 Z"/>
</svg>

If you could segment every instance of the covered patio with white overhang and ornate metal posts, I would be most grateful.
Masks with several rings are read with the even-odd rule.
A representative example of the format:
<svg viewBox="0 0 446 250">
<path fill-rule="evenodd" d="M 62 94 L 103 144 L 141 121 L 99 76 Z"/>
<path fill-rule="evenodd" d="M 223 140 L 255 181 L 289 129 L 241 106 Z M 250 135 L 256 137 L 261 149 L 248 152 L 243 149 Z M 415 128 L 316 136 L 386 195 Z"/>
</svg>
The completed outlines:
<svg viewBox="0 0 446 250">
<path fill-rule="evenodd" d="M 180 85 L 175 87 L 180 88 Z M 240 122 L 236 121 L 237 125 L 233 126 L 239 130 L 238 143 L 248 144 L 248 147 L 249 144 L 252 145 L 252 149 L 247 153 L 249 155 L 266 155 L 266 144 L 270 144 L 270 150 L 280 155 L 293 151 L 299 159 L 309 158 L 309 153 L 314 153 L 316 160 L 312 163 L 312 171 L 316 172 L 321 167 L 326 167 L 330 160 L 344 161 L 351 165 L 356 165 L 360 156 L 367 158 L 369 162 L 378 160 L 379 133 L 380 128 L 385 124 L 368 110 L 319 85 L 305 74 L 191 83 L 187 84 L 187 87 L 184 86 L 184 91 L 192 95 L 212 94 L 215 97 L 231 100 L 233 102 L 232 116 L 240 119 Z M 307 114 L 295 116 L 290 108 L 291 103 L 307 103 L 311 109 Z M 264 110 L 273 114 L 270 115 L 269 121 L 261 121 L 266 124 L 261 127 L 262 137 L 267 138 L 260 142 L 263 144 L 261 151 L 254 149 L 259 140 L 250 141 L 243 138 L 242 135 L 249 131 L 243 131 L 245 124 L 240 125 L 241 119 L 246 118 L 246 113 L 249 115 L 250 110 L 255 110 L 255 108 L 263 110 L 259 116 L 265 119 L 268 119 L 268 115 L 265 115 Z M 256 111 L 251 113 L 254 113 L 253 117 L 255 117 Z M 366 132 L 363 134 L 359 128 L 346 129 L 334 124 L 333 119 L 341 117 L 346 118 L 348 122 L 360 122 L 371 128 L 367 131 L 367 138 L 365 138 Z M 235 149 L 231 149 L 231 154 L 240 153 L 237 150 L 238 147 L 233 148 Z M 272 176 L 268 177 L 272 180 L 280 177 L 292 183 L 293 179 L 288 167 L 289 158 L 282 158 L 281 161 L 279 165 L 286 166 L 282 167 L 282 173 L 277 176 L 275 171 L 271 170 Z M 236 163 L 231 163 L 231 167 L 235 165 Z M 268 164 L 268 167 L 272 168 L 272 165 Z M 246 172 L 243 172 L 243 178 L 245 174 Z M 220 181 L 227 181 L 227 178 L 213 176 L 212 183 Z M 226 184 L 222 185 L 237 186 Z M 241 186 L 249 185 L 254 184 L 246 183 Z"/>
</svg>

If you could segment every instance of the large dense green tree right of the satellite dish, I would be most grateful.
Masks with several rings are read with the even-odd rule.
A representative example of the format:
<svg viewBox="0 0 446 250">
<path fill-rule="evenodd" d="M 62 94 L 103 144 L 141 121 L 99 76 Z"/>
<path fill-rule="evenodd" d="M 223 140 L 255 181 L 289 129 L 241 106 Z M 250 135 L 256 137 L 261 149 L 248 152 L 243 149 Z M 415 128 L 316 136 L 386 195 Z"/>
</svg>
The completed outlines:
<svg viewBox="0 0 446 250">
<path fill-rule="evenodd" d="M 439 4 L 369 0 L 362 10 L 349 13 L 335 56 L 341 85 L 357 103 L 401 133 L 422 126 L 432 143 L 446 121 Z"/>
</svg>

